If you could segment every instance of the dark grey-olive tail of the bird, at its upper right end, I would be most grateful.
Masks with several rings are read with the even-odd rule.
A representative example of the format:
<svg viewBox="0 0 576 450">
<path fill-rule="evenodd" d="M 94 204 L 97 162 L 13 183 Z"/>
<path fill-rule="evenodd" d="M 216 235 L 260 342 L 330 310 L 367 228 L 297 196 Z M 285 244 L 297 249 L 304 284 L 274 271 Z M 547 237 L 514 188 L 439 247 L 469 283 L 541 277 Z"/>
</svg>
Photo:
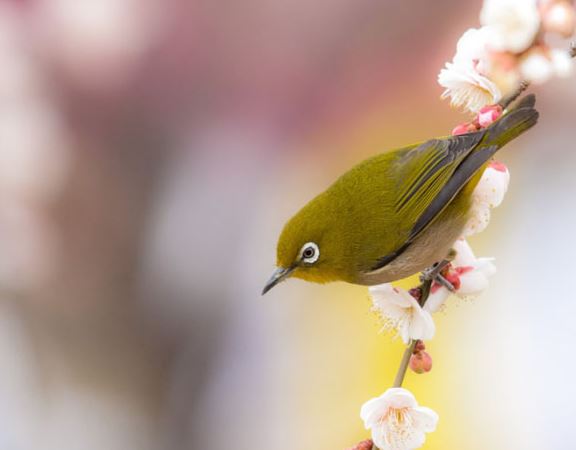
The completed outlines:
<svg viewBox="0 0 576 450">
<path fill-rule="evenodd" d="M 486 130 L 484 143 L 503 147 L 538 122 L 538 111 L 534 109 L 536 97 L 526 95 L 514 104 L 513 108 Z"/>
</svg>

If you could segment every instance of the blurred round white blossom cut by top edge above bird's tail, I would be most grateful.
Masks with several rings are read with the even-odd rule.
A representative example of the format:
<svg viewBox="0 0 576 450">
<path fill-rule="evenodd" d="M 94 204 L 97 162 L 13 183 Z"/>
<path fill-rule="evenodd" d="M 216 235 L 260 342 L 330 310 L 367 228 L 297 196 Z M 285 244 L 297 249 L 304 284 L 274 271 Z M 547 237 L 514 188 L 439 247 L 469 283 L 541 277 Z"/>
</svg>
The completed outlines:
<svg viewBox="0 0 576 450">
<path fill-rule="evenodd" d="M 485 0 L 480 21 L 490 29 L 492 50 L 521 53 L 536 38 L 540 13 L 535 0 Z"/>
</svg>

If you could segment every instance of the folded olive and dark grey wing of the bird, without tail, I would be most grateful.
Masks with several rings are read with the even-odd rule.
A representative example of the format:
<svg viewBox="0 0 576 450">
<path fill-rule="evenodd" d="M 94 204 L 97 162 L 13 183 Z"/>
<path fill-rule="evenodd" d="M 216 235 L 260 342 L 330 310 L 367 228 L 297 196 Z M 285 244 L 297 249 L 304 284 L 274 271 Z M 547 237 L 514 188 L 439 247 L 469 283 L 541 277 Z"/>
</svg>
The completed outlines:
<svg viewBox="0 0 576 450">
<path fill-rule="evenodd" d="M 406 241 L 380 258 L 371 271 L 399 256 L 496 152 L 496 146 L 477 149 L 483 137 L 484 132 L 477 132 L 433 139 L 400 155 L 395 210 L 413 225 Z"/>
</svg>

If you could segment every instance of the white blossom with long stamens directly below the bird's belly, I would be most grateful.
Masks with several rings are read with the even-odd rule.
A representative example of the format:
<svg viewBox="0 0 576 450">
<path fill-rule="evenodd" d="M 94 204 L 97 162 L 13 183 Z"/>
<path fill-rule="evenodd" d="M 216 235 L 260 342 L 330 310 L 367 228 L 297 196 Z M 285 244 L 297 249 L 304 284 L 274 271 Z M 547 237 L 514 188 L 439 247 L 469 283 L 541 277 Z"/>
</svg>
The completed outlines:
<svg viewBox="0 0 576 450">
<path fill-rule="evenodd" d="M 373 310 L 380 315 L 385 329 L 396 330 L 406 344 L 411 339 L 434 337 L 436 328 L 432 316 L 409 292 L 390 283 L 371 286 L 369 290 Z"/>
</svg>

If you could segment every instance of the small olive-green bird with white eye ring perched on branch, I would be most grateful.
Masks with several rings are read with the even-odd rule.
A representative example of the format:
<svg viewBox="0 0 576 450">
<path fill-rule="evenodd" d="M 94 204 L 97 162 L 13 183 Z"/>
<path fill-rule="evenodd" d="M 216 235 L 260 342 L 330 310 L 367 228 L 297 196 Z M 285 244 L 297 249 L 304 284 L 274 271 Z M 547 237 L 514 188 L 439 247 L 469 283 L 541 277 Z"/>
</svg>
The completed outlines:
<svg viewBox="0 0 576 450">
<path fill-rule="evenodd" d="M 462 236 L 472 192 L 494 154 L 534 126 L 528 95 L 477 132 L 373 156 L 346 172 L 284 226 L 277 269 L 262 294 L 289 277 L 374 285 L 444 259 Z"/>
</svg>

